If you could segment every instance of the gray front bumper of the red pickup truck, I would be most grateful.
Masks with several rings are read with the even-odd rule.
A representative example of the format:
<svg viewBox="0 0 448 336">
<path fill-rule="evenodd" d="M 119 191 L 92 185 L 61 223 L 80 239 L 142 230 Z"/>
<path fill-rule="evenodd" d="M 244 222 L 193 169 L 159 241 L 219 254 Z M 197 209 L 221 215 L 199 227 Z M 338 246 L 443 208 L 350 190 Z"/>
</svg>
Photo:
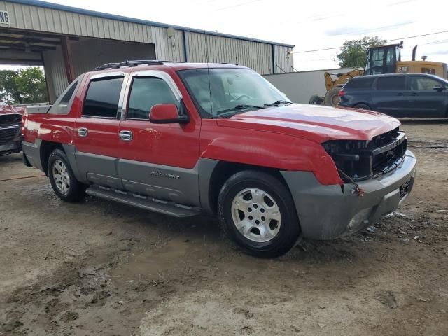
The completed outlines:
<svg viewBox="0 0 448 336">
<path fill-rule="evenodd" d="M 354 186 L 323 186 L 312 172 L 281 172 L 291 194 L 304 237 L 335 239 L 351 235 L 376 223 L 397 209 L 412 190 L 416 158 L 406 151 L 395 170 L 378 179 L 359 182 L 363 197 Z"/>
</svg>

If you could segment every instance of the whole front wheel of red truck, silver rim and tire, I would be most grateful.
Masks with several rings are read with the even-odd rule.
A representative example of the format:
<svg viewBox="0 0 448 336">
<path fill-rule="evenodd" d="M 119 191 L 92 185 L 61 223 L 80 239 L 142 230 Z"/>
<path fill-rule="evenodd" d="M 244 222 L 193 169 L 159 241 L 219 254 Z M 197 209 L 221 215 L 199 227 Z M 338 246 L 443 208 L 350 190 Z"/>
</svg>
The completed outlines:
<svg viewBox="0 0 448 336">
<path fill-rule="evenodd" d="M 288 188 L 265 172 L 244 171 L 231 176 L 219 194 L 218 214 L 237 244 L 256 257 L 283 255 L 300 235 Z"/>
</svg>

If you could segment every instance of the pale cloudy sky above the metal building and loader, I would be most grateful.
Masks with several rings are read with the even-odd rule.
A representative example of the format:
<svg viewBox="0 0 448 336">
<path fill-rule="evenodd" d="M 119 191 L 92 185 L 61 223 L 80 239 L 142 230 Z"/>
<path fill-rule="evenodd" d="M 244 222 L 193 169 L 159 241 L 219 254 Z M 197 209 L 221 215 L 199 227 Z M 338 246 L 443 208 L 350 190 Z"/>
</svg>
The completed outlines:
<svg viewBox="0 0 448 336">
<path fill-rule="evenodd" d="M 404 42 L 402 60 L 448 63 L 447 0 L 58 0 L 50 1 L 144 20 L 295 45 L 297 71 L 335 69 L 344 41 L 379 36 Z M 433 34 L 444 31 L 443 34 Z M 409 36 L 427 36 L 405 38 Z"/>
</svg>

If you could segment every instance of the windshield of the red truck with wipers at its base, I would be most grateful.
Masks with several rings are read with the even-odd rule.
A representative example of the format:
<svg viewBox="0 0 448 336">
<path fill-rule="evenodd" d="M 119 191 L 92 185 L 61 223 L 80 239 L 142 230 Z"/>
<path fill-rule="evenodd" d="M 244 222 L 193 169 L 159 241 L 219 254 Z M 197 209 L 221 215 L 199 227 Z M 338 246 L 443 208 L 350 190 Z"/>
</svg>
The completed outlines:
<svg viewBox="0 0 448 336">
<path fill-rule="evenodd" d="M 288 98 L 251 69 L 188 69 L 179 76 L 204 117 L 232 116 Z"/>
</svg>

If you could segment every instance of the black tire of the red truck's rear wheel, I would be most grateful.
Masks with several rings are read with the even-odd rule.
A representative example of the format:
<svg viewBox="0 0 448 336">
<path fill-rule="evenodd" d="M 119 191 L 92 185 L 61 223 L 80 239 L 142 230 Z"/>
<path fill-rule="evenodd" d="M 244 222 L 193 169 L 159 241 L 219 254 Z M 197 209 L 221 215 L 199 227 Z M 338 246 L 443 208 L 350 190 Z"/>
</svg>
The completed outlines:
<svg viewBox="0 0 448 336">
<path fill-rule="evenodd" d="M 64 166 L 59 166 L 61 162 Z M 68 183 L 62 183 L 64 184 L 63 188 L 61 187 L 61 179 L 58 178 L 58 176 L 61 175 L 55 175 L 55 172 L 57 172 L 60 167 L 66 167 L 66 176 L 64 176 L 64 181 L 68 181 Z M 50 179 L 50 183 L 55 191 L 55 194 L 65 202 L 78 202 L 85 196 L 85 185 L 80 183 L 73 175 L 73 171 L 71 170 L 69 164 L 69 159 L 65 155 L 64 151 L 60 149 L 55 149 L 48 157 L 48 178 Z M 56 179 L 58 181 L 56 181 Z"/>
</svg>

